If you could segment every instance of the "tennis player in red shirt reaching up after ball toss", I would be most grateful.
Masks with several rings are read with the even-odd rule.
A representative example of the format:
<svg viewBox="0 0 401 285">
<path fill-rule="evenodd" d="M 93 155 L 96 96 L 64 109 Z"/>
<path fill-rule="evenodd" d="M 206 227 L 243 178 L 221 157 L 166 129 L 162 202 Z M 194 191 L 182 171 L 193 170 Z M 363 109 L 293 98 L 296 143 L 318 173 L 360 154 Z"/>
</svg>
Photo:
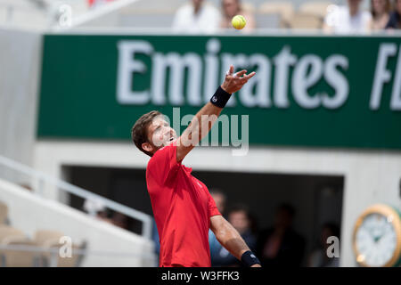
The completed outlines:
<svg viewBox="0 0 401 285">
<path fill-rule="evenodd" d="M 233 73 L 231 66 L 224 83 L 178 138 L 155 110 L 144 114 L 132 128 L 136 147 L 151 156 L 146 182 L 160 236 L 161 267 L 209 267 L 209 229 L 244 265 L 260 266 L 241 235 L 219 213 L 206 185 L 191 175 L 192 168 L 182 164 L 184 157 L 208 134 L 231 94 L 255 75 L 246 72 Z"/>
</svg>

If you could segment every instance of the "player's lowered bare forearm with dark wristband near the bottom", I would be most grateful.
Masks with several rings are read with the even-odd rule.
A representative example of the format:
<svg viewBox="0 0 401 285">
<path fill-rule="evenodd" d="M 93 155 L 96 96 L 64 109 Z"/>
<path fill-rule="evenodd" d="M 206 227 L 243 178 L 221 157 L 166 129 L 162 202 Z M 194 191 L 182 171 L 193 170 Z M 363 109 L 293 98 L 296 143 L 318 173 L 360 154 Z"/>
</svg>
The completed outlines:
<svg viewBox="0 0 401 285">
<path fill-rule="evenodd" d="M 215 233 L 218 242 L 238 260 L 251 267 L 260 267 L 258 258 L 251 257 L 254 255 L 240 233 L 223 216 L 211 216 L 210 229 Z"/>
</svg>

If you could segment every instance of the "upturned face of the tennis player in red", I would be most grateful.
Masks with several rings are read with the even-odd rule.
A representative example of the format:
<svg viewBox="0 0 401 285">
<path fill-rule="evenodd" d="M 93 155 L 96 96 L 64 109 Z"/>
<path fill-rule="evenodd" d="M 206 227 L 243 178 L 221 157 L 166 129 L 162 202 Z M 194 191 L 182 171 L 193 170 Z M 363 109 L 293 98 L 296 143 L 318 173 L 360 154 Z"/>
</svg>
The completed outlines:
<svg viewBox="0 0 401 285">
<path fill-rule="evenodd" d="M 176 140 L 176 131 L 163 116 L 154 118 L 148 127 L 148 138 L 155 151 Z"/>
</svg>

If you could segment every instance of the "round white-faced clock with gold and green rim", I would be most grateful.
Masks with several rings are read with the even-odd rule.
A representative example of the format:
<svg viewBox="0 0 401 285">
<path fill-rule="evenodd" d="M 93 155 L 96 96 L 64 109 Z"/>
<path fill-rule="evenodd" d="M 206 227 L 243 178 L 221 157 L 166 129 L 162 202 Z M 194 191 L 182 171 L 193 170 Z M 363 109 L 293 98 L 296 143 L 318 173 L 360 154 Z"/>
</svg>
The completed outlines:
<svg viewBox="0 0 401 285">
<path fill-rule="evenodd" d="M 401 217 L 397 209 L 383 204 L 367 208 L 356 220 L 353 245 L 359 265 L 400 265 Z"/>
</svg>

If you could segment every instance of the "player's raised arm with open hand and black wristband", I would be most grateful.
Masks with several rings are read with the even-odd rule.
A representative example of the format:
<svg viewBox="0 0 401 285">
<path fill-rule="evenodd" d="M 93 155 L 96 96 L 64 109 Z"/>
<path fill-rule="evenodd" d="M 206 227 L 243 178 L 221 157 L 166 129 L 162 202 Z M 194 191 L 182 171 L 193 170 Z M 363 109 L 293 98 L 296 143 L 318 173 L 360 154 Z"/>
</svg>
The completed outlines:
<svg viewBox="0 0 401 285">
<path fill-rule="evenodd" d="M 192 118 L 190 125 L 177 140 L 176 160 L 181 161 L 201 139 L 205 137 L 213 124 L 217 121 L 220 112 L 230 99 L 231 94 L 239 91 L 248 80 L 255 75 L 255 72 L 246 74 L 247 70 L 233 73 L 233 65 L 225 75 L 225 81 L 217 88 L 216 93 L 211 97 L 203 108 Z"/>
</svg>

